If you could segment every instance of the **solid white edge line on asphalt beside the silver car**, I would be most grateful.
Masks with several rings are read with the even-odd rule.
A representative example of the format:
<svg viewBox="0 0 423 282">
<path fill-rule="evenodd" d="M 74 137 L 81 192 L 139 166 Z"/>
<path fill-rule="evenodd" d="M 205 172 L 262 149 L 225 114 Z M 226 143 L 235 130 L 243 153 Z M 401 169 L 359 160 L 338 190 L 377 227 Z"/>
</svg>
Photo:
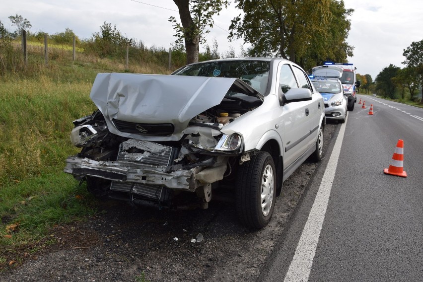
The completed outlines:
<svg viewBox="0 0 423 282">
<path fill-rule="evenodd" d="M 304 225 L 295 254 L 292 258 L 284 282 L 306 282 L 310 276 L 314 255 L 316 254 L 317 243 L 319 242 L 323 220 L 325 219 L 328 207 L 329 196 L 332 190 L 332 183 L 338 165 L 341 145 L 345 134 L 345 125 L 341 126 L 338 137 L 335 141 L 331 157 L 316 194 L 313 206 Z"/>
</svg>

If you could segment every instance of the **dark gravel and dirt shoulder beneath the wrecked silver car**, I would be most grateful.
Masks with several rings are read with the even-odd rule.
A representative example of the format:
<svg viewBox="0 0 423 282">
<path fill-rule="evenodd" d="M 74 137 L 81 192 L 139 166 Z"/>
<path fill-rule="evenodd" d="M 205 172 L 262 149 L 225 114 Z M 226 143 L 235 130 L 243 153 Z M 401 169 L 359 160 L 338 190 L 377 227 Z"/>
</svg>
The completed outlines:
<svg viewBox="0 0 423 282">
<path fill-rule="evenodd" d="M 324 148 L 337 125 L 327 124 Z M 161 211 L 99 204 L 86 222 L 57 226 L 56 243 L 0 274 L 0 281 L 256 281 L 312 176 L 306 161 L 285 182 L 268 226 L 240 225 L 232 203 Z M 202 242 L 192 239 L 202 234 Z"/>
</svg>

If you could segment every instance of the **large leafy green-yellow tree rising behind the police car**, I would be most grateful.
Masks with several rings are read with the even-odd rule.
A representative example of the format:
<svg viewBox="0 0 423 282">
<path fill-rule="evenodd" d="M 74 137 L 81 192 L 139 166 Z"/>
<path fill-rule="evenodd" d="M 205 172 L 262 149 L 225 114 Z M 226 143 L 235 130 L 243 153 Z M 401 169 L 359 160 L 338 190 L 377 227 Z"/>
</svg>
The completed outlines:
<svg viewBox="0 0 423 282">
<path fill-rule="evenodd" d="M 327 59 L 344 62 L 353 47 L 351 28 L 338 0 L 235 0 L 244 14 L 232 20 L 229 39 L 244 38 L 252 56 L 280 56 L 309 70 Z"/>
</svg>

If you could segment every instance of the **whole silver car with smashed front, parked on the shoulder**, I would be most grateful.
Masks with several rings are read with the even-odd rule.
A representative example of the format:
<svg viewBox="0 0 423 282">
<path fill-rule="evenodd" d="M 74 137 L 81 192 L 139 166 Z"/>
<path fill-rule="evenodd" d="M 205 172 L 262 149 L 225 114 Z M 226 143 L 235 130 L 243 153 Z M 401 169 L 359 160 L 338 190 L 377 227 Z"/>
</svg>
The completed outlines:
<svg viewBox="0 0 423 282">
<path fill-rule="evenodd" d="M 322 96 L 284 59 L 99 73 L 90 97 L 98 110 L 73 122 L 82 150 L 64 171 L 97 197 L 207 208 L 226 194 L 245 225 L 262 228 L 282 182 L 323 153 Z"/>
</svg>

